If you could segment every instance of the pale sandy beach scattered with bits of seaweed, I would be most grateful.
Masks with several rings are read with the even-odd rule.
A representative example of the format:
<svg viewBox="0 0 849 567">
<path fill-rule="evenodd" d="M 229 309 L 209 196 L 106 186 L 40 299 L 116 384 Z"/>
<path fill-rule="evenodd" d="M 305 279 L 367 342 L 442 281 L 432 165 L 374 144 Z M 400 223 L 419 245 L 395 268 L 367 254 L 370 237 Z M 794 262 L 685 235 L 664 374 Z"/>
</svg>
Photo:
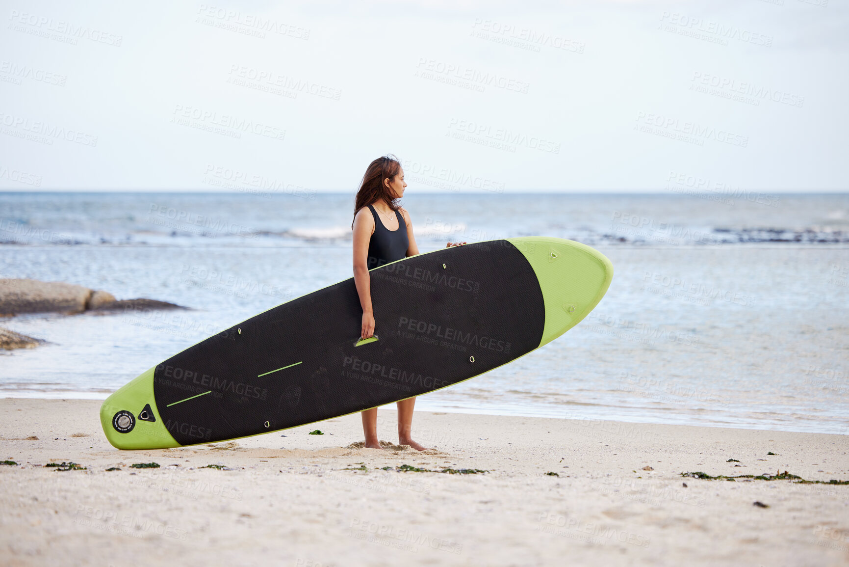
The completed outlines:
<svg viewBox="0 0 849 567">
<path fill-rule="evenodd" d="M 681 475 L 846 480 L 845 435 L 417 412 L 424 454 L 358 415 L 117 451 L 98 407 L 0 400 L 0 563 L 849 564 L 849 485 Z"/>
</svg>

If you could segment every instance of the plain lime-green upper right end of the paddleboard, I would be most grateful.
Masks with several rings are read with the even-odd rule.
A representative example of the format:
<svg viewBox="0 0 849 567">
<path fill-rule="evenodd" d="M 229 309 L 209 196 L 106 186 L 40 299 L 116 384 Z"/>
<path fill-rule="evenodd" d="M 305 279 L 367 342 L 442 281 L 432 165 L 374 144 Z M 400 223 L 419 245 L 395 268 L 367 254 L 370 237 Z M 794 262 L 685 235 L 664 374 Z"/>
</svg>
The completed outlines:
<svg viewBox="0 0 849 567">
<path fill-rule="evenodd" d="M 598 250 L 561 238 L 526 236 L 507 241 L 525 255 L 543 290 L 545 327 L 539 346 L 581 322 L 610 287 L 613 264 Z"/>
</svg>

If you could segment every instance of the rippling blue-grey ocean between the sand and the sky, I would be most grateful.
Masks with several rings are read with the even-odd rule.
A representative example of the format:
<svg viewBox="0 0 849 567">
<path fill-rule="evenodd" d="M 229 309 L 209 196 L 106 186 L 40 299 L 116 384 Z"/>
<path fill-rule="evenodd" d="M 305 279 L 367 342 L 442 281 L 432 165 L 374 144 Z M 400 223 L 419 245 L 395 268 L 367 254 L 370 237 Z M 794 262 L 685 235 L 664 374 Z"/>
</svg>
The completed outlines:
<svg viewBox="0 0 849 567">
<path fill-rule="evenodd" d="M 587 319 L 416 408 L 849 434 L 849 195 L 416 193 L 419 250 L 546 235 L 616 273 Z M 353 194 L 0 193 L 0 277 L 186 311 L 21 315 L 0 396 L 103 399 L 172 354 L 351 277 Z M 377 322 L 380 332 L 380 321 Z"/>
</svg>

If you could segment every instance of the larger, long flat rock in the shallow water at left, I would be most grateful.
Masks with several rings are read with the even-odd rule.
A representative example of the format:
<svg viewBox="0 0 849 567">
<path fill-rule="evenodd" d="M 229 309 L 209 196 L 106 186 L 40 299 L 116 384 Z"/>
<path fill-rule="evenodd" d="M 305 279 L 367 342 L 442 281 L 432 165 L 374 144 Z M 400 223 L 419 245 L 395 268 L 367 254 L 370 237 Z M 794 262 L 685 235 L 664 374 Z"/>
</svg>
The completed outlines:
<svg viewBox="0 0 849 567">
<path fill-rule="evenodd" d="M 110 292 L 62 281 L 0 279 L 0 315 L 22 313 L 107 313 L 125 309 L 186 309 L 155 299 L 115 300 Z"/>
</svg>

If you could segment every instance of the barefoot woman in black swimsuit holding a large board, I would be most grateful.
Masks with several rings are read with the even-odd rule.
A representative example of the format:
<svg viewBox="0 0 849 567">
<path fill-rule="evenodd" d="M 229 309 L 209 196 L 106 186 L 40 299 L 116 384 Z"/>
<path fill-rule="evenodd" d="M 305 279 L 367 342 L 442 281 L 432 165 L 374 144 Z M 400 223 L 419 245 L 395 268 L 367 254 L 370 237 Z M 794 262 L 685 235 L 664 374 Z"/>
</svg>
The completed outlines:
<svg viewBox="0 0 849 567">
<path fill-rule="evenodd" d="M 390 154 L 368 165 L 360 189 L 357 190 L 351 227 L 354 230 L 354 283 L 363 308 L 363 338 L 374 335 L 368 270 L 419 253 L 410 213 L 397 202 L 404 196 L 405 187 L 407 184 L 404 183 L 401 163 Z M 448 242 L 448 246 L 458 245 Z M 410 436 L 416 399 L 401 400 L 397 405 L 398 444 L 424 451 L 424 447 Z M 382 449 L 377 437 L 377 408 L 363 411 L 363 433 L 366 436 L 366 447 Z"/>
</svg>

